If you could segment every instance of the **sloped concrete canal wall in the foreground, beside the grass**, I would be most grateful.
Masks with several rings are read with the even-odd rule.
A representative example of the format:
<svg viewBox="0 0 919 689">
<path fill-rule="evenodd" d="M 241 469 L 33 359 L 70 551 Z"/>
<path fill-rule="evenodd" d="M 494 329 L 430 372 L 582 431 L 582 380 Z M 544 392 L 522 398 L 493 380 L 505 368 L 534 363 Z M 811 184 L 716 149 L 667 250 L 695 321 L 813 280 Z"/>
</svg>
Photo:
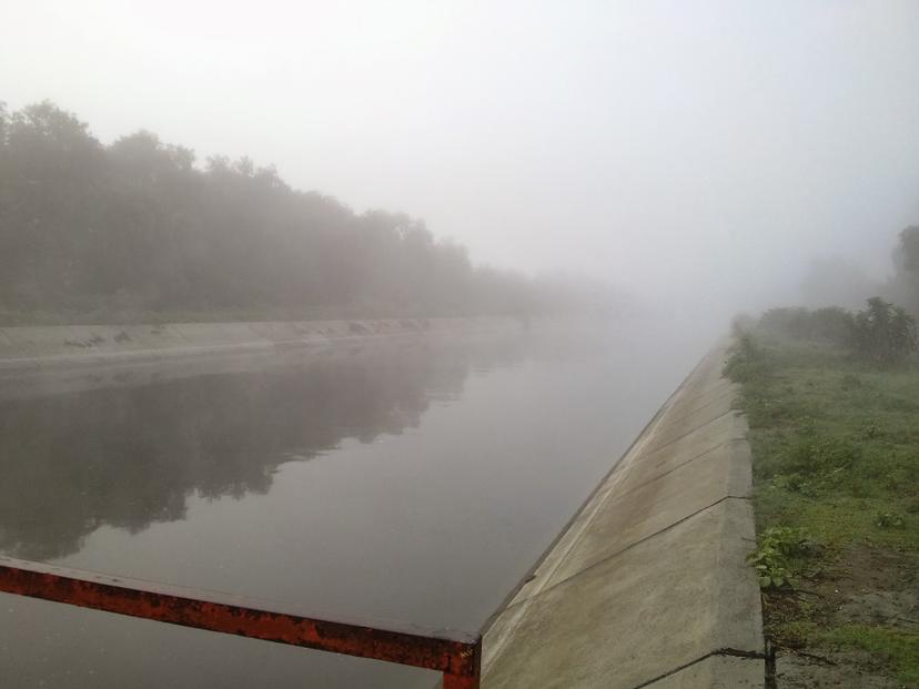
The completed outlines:
<svg viewBox="0 0 919 689">
<path fill-rule="evenodd" d="M 706 356 L 484 641 L 485 689 L 764 686 L 746 423 Z"/>
</svg>

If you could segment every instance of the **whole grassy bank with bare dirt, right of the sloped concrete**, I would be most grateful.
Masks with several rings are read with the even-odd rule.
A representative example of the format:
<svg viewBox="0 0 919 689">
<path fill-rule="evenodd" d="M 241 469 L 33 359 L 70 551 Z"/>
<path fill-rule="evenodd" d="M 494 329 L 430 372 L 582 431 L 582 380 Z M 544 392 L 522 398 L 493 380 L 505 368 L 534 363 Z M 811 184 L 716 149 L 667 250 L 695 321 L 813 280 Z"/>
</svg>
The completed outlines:
<svg viewBox="0 0 919 689">
<path fill-rule="evenodd" d="M 919 688 L 919 364 L 755 332 L 726 374 L 750 426 L 778 686 Z"/>
</svg>

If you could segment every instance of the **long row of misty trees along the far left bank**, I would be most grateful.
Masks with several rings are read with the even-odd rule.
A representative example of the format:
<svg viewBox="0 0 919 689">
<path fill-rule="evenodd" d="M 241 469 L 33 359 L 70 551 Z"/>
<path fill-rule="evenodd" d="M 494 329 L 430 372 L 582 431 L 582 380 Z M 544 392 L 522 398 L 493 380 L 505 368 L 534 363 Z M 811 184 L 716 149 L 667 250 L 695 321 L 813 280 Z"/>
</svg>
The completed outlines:
<svg viewBox="0 0 919 689">
<path fill-rule="evenodd" d="M 603 285 L 475 266 L 403 213 L 356 214 L 248 158 L 147 131 L 103 145 L 0 103 L 0 317 L 297 318 L 608 311 Z M 181 317 L 179 316 L 179 317 Z"/>
</svg>

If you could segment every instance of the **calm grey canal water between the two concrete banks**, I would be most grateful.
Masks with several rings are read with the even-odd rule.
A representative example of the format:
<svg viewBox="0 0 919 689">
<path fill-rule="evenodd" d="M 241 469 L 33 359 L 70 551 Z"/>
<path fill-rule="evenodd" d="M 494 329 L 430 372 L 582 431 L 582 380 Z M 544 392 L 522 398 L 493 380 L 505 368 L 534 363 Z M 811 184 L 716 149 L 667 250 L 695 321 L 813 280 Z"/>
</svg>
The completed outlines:
<svg viewBox="0 0 919 689">
<path fill-rule="evenodd" d="M 685 333 L 514 327 L 0 381 L 0 551 L 474 631 L 688 374 L 704 346 Z M 3 687 L 437 681 L 8 595 L 0 668 Z"/>
</svg>

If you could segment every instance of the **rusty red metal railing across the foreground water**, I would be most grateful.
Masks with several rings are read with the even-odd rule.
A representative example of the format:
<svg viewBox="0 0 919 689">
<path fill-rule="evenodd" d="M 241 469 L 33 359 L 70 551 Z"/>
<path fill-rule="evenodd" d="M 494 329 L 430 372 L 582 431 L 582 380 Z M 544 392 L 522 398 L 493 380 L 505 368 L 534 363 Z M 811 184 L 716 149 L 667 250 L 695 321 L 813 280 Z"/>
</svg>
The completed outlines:
<svg viewBox="0 0 919 689">
<path fill-rule="evenodd" d="M 290 644 L 443 672 L 444 689 L 478 689 L 482 637 L 381 629 L 272 611 L 236 596 L 0 557 L 0 591 L 183 627 Z"/>
</svg>

